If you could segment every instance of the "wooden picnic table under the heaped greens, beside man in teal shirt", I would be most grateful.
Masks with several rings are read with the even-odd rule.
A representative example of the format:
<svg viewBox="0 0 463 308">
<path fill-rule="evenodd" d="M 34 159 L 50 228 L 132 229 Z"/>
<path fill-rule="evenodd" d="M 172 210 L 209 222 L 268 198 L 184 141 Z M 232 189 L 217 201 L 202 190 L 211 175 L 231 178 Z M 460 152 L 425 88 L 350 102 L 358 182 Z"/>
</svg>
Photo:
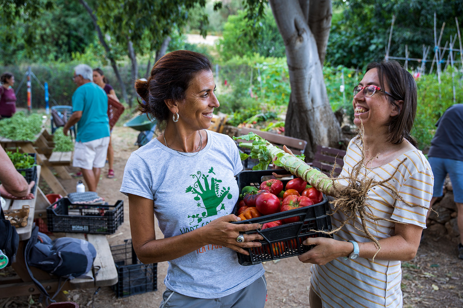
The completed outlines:
<svg viewBox="0 0 463 308">
<path fill-rule="evenodd" d="M 53 152 L 53 136 L 48 133 L 46 128 L 42 128 L 41 132 L 35 136 L 35 140 L 12 140 L 0 136 L 0 145 L 3 148 L 20 148 L 24 153 L 36 153 L 37 163 L 42 166 L 42 177 L 50 186 L 54 193 L 59 193 L 66 196 L 68 193 L 63 185 L 56 179 L 56 176 L 50 170 L 53 167 L 56 173 L 62 179 L 72 179 L 69 172 L 64 166 L 71 162 L 72 152 L 66 153 L 63 157 L 63 152 Z M 39 192 L 42 191 L 39 188 Z"/>
</svg>

